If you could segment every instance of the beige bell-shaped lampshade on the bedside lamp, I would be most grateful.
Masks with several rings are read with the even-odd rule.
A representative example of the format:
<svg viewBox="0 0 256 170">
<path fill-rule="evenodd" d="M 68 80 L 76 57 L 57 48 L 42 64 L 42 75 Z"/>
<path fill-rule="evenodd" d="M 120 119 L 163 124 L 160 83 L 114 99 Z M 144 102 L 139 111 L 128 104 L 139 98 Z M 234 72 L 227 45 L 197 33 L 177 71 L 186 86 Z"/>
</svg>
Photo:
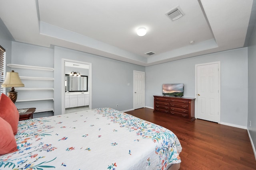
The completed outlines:
<svg viewBox="0 0 256 170">
<path fill-rule="evenodd" d="M 6 72 L 2 87 L 24 87 L 24 84 L 20 80 L 19 73 L 12 70 L 12 72 Z"/>
</svg>

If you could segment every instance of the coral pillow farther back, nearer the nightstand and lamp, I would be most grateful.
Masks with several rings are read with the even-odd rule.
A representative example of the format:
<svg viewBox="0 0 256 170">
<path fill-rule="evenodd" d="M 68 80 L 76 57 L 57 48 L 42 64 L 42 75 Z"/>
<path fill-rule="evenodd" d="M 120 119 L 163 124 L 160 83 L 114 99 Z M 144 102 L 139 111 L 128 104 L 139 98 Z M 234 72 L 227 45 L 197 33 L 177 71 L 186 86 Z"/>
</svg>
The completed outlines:
<svg viewBox="0 0 256 170">
<path fill-rule="evenodd" d="M 0 117 L 11 125 L 13 134 L 16 135 L 20 114 L 12 100 L 3 93 L 0 96 Z"/>
</svg>

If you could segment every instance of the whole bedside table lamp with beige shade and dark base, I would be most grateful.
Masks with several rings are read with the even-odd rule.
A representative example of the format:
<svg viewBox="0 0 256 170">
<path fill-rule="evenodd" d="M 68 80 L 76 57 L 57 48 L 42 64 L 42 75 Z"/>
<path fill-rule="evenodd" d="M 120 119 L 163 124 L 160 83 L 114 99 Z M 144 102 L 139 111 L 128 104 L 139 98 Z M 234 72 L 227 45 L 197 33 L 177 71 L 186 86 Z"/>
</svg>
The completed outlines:
<svg viewBox="0 0 256 170">
<path fill-rule="evenodd" d="M 12 87 L 11 91 L 8 92 L 8 97 L 12 100 L 13 103 L 17 100 L 17 93 L 14 87 L 24 87 L 24 84 L 20 80 L 18 72 L 6 72 L 6 78 L 2 84 L 2 87 Z"/>
</svg>

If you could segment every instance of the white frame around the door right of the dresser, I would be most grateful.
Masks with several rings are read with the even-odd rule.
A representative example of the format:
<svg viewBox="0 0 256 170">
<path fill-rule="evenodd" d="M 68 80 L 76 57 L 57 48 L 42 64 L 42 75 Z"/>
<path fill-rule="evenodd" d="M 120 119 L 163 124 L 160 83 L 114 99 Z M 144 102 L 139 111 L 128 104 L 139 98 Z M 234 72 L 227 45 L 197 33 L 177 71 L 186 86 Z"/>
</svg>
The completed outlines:
<svg viewBox="0 0 256 170">
<path fill-rule="evenodd" d="M 218 123 L 220 123 L 220 61 L 216 62 L 211 62 L 211 63 L 202 63 L 202 64 L 196 64 L 195 65 L 195 118 L 197 119 L 197 66 L 202 66 L 202 65 L 209 65 L 209 64 L 218 64 L 218 89 L 219 89 L 219 94 L 218 94 Z"/>
</svg>

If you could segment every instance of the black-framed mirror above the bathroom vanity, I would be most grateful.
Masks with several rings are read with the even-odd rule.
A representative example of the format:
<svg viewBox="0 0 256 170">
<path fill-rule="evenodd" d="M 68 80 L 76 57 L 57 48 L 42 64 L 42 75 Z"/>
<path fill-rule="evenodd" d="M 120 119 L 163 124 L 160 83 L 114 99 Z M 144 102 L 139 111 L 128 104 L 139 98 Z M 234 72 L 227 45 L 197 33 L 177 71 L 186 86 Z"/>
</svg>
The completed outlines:
<svg viewBox="0 0 256 170">
<path fill-rule="evenodd" d="M 88 92 L 88 76 L 65 74 L 65 92 Z"/>
</svg>

